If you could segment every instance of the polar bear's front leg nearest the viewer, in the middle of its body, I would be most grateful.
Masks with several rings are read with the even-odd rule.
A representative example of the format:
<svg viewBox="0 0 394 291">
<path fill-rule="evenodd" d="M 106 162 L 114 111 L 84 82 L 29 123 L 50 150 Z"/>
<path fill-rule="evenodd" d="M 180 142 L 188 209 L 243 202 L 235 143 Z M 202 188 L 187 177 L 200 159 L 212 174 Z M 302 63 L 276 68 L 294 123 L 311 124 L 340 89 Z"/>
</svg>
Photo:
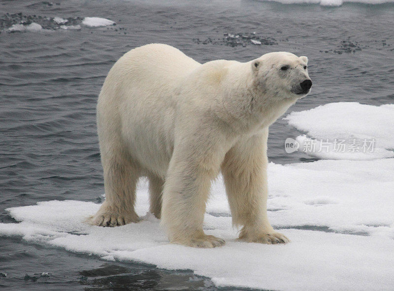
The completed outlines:
<svg viewBox="0 0 394 291">
<path fill-rule="evenodd" d="M 219 172 L 221 159 L 209 149 L 209 154 L 198 152 L 193 145 L 175 147 L 164 183 L 162 224 L 171 243 L 214 248 L 225 241 L 206 235 L 202 224 L 211 180 Z"/>
</svg>

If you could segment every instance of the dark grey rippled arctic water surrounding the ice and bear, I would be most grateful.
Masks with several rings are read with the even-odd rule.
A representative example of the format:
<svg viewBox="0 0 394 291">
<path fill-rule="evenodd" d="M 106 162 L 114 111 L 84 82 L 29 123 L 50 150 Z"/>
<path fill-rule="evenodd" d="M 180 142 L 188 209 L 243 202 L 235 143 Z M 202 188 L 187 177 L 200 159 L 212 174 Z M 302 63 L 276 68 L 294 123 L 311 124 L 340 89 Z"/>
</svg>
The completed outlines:
<svg viewBox="0 0 394 291">
<path fill-rule="evenodd" d="M 64 30 L 55 16 L 67 19 L 66 25 L 80 25 L 85 16 L 117 25 Z M 21 21 L 45 30 L 7 32 Z M 109 68 L 134 47 L 167 43 L 199 62 L 249 61 L 290 51 L 308 56 L 314 85 L 289 111 L 337 101 L 380 105 L 394 100 L 393 27 L 393 4 L 2 0 L 0 221 L 14 222 L 7 207 L 53 199 L 99 201 L 103 180 L 96 99 Z M 281 119 L 273 124 L 270 161 L 312 161 L 284 151 L 285 139 L 299 133 Z M 106 262 L 7 237 L 0 237 L 0 289 L 218 290 L 190 271 Z"/>
</svg>

